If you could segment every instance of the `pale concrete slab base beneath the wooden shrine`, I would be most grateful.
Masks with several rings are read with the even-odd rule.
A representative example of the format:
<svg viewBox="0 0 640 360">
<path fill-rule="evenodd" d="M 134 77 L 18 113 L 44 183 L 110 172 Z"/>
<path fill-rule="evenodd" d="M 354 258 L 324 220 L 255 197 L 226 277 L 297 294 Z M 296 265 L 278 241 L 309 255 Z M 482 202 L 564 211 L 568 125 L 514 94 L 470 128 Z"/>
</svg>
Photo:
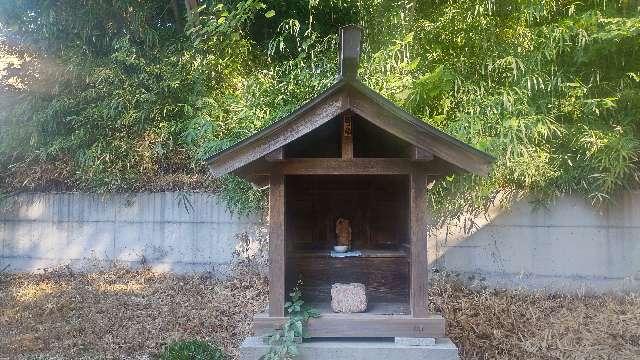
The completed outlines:
<svg viewBox="0 0 640 360">
<path fill-rule="evenodd" d="M 257 360 L 269 349 L 260 337 L 247 338 L 240 346 L 241 360 Z M 311 339 L 298 345 L 299 360 L 459 360 L 458 348 L 449 338 L 434 345 L 398 344 L 394 339 Z"/>
</svg>

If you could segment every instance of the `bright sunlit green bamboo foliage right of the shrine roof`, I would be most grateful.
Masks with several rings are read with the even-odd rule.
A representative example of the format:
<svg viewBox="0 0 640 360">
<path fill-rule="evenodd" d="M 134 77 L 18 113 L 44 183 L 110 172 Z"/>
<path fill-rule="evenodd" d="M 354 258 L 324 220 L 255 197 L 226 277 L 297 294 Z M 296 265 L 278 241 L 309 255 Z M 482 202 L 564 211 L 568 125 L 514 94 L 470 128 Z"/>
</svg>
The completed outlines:
<svg viewBox="0 0 640 360">
<path fill-rule="evenodd" d="M 598 204 L 637 186 L 633 3 L 416 3 L 404 36 L 365 57 L 370 86 L 497 157 L 489 178 L 454 176 L 430 193 L 440 219 L 482 211 L 499 192 Z"/>
</svg>

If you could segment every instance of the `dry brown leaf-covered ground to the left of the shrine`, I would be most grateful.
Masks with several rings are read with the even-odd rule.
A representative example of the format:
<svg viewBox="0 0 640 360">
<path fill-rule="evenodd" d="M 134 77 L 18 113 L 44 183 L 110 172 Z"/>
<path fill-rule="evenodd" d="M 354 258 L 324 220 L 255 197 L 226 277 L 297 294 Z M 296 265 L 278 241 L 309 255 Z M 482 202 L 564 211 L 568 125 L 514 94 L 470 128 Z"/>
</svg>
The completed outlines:
<svg viewBox="0 0 640 360">
<path fill-rule="evenodd" d="M 227 281 L 120 267 L 0 277 L 0 359 L 144 358 L 193 338 L 236 354 L 267 298 L 265 279 L 249 271 Z"/>
</svg>

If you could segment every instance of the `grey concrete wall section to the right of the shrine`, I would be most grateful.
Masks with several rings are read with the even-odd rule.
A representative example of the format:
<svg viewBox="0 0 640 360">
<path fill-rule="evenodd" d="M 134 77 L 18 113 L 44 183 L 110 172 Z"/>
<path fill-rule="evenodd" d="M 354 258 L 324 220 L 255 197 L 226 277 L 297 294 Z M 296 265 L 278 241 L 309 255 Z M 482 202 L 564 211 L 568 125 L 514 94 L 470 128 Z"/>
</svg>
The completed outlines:
<svg viewBox="0 0 640 360">
<path fill-rule="evenodd" d="M 603 209 L 571 196 L 537 210 L 524 200 L 431 235 L 432 267 L 494 287 L 640 289 L 640 192 Z"/>
</svg>

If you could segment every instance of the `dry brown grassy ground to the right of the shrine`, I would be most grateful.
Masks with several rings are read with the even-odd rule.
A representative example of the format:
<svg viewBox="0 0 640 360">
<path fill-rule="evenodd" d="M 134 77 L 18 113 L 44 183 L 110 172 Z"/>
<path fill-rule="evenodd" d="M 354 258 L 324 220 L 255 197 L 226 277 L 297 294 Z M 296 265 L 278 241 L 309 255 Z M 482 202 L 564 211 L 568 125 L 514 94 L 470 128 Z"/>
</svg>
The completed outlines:
<svg viewBox="0 0 640 360">
<path fill-rule="evenodd" d="M 472 290 L 444 277 L 431 291 L 465 360 L 640 359 L 638 295 Z"/>
</svg>

